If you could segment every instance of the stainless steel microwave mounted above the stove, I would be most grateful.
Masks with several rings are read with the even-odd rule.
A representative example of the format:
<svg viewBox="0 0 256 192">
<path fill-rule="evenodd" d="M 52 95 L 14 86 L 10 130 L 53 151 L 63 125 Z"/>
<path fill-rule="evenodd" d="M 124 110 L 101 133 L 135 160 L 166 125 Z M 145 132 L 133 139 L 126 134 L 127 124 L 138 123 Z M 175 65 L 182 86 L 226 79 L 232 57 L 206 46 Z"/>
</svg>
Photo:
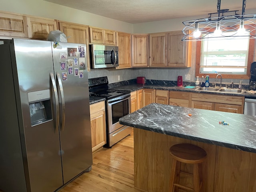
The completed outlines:
<svg viewBox="0 0 256 192">
<path fill-rule="evenodd" d="M 117 67 L 118 47 L 106 45 L 89 45 L 91 68 Z"/>
</svg>

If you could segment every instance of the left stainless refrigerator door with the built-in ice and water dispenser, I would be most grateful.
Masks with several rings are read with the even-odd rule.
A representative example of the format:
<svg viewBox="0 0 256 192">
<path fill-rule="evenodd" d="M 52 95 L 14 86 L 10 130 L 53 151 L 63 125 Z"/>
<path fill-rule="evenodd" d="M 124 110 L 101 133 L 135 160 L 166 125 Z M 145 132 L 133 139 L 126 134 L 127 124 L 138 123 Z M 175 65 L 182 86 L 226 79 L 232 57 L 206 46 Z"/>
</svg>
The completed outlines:
<svg viewBox="0 0 256 192">
<path fill-rule="evenodd" d="M 52 96 L 54 84 L 50 78 L 50 73 L 54 77 L 52 45 L 51 42 L 38 40 L 14 39 L 13 42 L 12 68 L 19 122 L 19 127 L 13 128 L 20 129 L 25 172 L 29 173 L 27 186 L 30 186 L 31 192 L 52 192 L 63 185 L 60 137 L 56 132 L 55 98 Z M 38 97 L 33 98 L 36 93 Z M 52 96 L 50 102 L 45 102 L 45 106 L 31 104 L 40 103 L 42 94 L 42 100 Z M 39 99 L 38 102 L 36 99 Z M 31 114 L 46 105 L 51 109 L 48 115 L 52 116 L 33 124 L 32 121 L 47 117 L 41 110 L 35 118 L 31 118 Z"/>
</svg>

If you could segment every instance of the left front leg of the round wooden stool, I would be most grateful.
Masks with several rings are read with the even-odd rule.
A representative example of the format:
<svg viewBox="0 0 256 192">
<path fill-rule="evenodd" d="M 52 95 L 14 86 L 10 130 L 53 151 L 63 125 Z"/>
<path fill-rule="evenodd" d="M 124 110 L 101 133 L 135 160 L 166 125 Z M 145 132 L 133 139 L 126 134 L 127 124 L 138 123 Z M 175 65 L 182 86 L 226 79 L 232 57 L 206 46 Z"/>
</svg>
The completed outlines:
<svg viewBox="0 0 256 192">
<path fill-rule="evenodd" d="M 180 162 L 173 159 L 172 160 L 172 169 L 170 174 L 170 187 L 169 192 L 175 191 L 174 183 L 178 183 L 180 178 Z"/>
</svg>

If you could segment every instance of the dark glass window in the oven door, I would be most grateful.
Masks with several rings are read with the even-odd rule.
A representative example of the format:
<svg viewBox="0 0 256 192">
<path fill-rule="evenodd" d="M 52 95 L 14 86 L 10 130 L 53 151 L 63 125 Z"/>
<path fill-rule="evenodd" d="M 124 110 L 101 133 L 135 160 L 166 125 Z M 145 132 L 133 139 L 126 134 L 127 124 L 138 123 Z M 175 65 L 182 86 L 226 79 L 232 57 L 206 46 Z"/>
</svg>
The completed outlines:
<svg viewBox="0 0 256 192">
<path fill-rule="evenodd" d="M 129 114 L 129 100 L 112 104 L 112 124 L 119 122 L 119 118 Z"/>
</svg>

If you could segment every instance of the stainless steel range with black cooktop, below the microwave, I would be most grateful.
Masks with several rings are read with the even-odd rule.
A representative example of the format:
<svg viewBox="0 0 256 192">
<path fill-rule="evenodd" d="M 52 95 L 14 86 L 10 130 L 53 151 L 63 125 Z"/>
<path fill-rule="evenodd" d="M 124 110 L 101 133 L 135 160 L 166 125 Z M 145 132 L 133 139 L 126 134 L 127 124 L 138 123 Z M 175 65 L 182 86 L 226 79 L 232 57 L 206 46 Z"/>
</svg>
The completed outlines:
<svg viewBox="0 0 256 192">
<path fill-rule="evenodd" d="M 119 124 L 119 118 L 130 114 L 130 91 L 108 89 L 108 77 L 88 79 L 90 100 L 106 98 L 107 144 L 111 147 L 132 132 L 132 128 Z"/>
</svg>

